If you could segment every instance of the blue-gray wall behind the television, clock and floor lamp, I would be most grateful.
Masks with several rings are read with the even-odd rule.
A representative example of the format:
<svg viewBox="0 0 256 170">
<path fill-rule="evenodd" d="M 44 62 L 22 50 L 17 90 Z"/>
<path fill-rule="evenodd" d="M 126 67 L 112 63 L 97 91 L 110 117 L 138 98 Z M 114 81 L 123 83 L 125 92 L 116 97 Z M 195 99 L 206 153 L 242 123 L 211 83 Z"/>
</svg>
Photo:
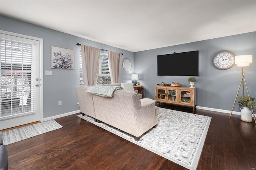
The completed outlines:
<svg viewBox="0 0 256 170">
<path fill-rule="evenodd" d="M 197 106 L 229 111 L 232 109 L 242 78 L 241 67 L 234 65 L 231 69 L 220 70 L 212 63 L 214 55 L 225 50 L 232 51 L 235 55 L 253 55 L 253 63 L 247 67 L 245 77 L 250 95 L 256 96 L 256 32 L 251 32 L 134 53 L 134 73 L 139 74 L 145 97 L 154 99 L 155 86 L 162 81 L 168 84 L 178 81 L 182 87 L 189 87 L 189 76 L 158 76 L 157 55 L 195 50 L 199 50 L 199 76 L 195 76 Z M 184 61 L 185 64 L 189 63 Z M 239 94 L 242 95 L 242 87 Z M 236 104 L 234 111 L 240 111 L 239 108 Z"/>
</svg>

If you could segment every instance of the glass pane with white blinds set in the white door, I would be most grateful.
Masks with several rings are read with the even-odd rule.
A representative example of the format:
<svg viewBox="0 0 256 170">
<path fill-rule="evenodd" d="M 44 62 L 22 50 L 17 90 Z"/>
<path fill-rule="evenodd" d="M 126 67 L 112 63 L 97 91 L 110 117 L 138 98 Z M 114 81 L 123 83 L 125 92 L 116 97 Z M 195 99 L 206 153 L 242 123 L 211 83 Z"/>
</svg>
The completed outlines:
<svg viewBox="0 0 256 170">
<path fill-rule="evenodd" d="M 33 44 L 0 39 L 0 117 L 31 111 Z"/>
</svg>

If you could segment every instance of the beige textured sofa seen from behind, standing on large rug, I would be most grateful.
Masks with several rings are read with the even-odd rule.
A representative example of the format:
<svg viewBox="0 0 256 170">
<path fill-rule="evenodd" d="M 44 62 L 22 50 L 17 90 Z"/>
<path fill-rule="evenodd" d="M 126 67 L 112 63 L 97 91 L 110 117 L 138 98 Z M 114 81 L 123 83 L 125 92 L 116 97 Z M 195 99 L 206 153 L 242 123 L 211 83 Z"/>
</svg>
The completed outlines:
<svg viewBox="0 0 256 170">
<path fill-rule="evenodd" d="M 109 85 L 118 85 L 109 84 Z M 159 108 L 152 99 L 140 99 L 130 91 L 114 91 L 112 97 L 102 97 L 86 92 L 88 86 L 77 86 L 76 95 L 81 112 L 128 134 L 136 141 L 158 123 Z"/>
</svg>

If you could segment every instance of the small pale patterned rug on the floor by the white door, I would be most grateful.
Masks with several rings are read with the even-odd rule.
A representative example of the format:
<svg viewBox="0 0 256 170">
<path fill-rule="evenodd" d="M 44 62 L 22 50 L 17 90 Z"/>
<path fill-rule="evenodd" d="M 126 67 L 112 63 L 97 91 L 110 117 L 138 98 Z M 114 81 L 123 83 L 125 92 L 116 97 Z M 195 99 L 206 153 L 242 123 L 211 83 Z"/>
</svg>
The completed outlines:
<svg viewBox="0 0 256 170">
<path fill-rule="evenodd" d="M 2 132 L 3 142 L 5 145 L 12 144 L 20 140 L 56 130 L 58 128 L 62 128 L 62 126 L 52 119 L 50 121 L 44 121 L 25 127 L 7 130 Z"/>
</svg>

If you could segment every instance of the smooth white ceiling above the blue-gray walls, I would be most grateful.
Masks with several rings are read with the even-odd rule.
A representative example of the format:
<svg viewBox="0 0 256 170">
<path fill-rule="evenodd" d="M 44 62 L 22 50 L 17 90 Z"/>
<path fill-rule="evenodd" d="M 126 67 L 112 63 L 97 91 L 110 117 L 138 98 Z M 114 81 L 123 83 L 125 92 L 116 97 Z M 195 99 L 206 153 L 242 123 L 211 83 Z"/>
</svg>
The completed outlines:
<svg viewBox="0 0 256 170">
<path fill-rule="evenodd" d="M 0 0 L 0 14 L 132 52 L 256 31 L 256 0 Z"/>
</svg>

